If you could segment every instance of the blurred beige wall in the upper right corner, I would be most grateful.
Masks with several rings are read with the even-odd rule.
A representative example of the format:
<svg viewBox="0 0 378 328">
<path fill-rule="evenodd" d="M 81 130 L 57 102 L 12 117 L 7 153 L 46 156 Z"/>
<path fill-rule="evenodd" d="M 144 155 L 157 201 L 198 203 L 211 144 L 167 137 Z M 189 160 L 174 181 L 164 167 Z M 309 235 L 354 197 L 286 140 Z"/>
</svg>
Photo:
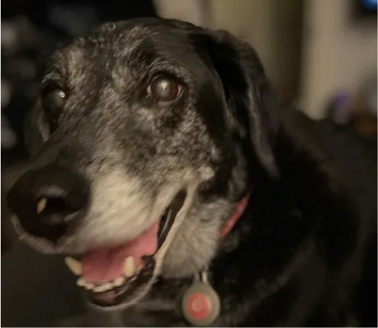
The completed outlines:
<svg viewBox="0 0 378 328">
<path fill-rule="evenodd" d="M 315 119 L 336 92 L 377 76 L 377 20 L 353 16 L 352 1 L 307 1 L 299 102 Z"/>
</svg>

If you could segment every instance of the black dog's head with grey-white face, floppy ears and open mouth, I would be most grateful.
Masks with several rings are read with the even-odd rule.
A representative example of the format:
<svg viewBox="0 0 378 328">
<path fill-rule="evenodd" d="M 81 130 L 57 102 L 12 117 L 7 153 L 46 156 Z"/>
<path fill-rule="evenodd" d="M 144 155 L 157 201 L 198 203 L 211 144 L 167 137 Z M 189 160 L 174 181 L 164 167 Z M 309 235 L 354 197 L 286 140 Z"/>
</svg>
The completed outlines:
<svg viewBox="0 0 378 328">
<path fill-rule="evenodd" d="M 102 25 L 47 65 L 26 124 L 33 161 L 8 194 L 16 229 L 70 255 L 94 303 L 132 304 L 156 275 L 209 264 L 248 165 L 277 174 L 275 107 L 256 53 L 229 33 Z"/>
</svg>

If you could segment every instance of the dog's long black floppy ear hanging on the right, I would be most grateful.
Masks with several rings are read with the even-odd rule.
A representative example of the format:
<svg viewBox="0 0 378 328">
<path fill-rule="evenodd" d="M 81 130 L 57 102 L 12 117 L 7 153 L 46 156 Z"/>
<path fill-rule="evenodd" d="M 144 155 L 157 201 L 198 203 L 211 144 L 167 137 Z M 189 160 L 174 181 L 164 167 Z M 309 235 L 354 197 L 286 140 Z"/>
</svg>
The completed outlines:
<svg viewBox="0 0 378 328">
<path fill-rule="evenodd" d="M 277 177 L 273 143 L 279 102 L 255 50 L 222 30 L 207 30 L 196 35 L 195 42 L 202 46 L 205 42 L 207 60 L 222 81 L 231 114 L 247 129 L 260 163 L 271 177 Z"/>
</svg>

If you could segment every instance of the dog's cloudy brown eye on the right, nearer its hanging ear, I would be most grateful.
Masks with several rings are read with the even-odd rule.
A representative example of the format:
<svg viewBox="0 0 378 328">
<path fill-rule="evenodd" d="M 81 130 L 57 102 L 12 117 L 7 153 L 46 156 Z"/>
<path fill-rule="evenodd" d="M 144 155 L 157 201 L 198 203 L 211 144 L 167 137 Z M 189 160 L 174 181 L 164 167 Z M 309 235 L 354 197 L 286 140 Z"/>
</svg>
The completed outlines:
<svg viewBox="0 0 378 328">
<path fill-rule="evenodd" d="M 172 78 L 156 76 L 149 85 L 148 93 L 154 100 L 173 101 L 180 95 L 181 85 Z"/>
</svg>

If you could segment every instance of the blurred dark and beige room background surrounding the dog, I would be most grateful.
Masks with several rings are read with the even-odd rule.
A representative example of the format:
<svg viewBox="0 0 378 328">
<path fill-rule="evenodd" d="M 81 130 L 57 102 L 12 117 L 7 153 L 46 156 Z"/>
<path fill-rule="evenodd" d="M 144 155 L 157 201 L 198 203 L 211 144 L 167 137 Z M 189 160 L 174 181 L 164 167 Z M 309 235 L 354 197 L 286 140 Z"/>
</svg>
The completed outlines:
<svg viewBox="0 0 378 328">
<path fill-rule="evenodd" d="M 23 119 L 38 92 L 44 59 L 59 43 L 101 22 L 141 16 L 244 37 L 282 100 L 335 129 L 352 127 L 376 165 L 377 0 L 7 0 L 1 6 L 2 204 L 25 167 Z M 1 216 L 1 324 L 81 320 L 84 305 L 62 259 L 16 242 L 5 206 Z"/>
</svg>

